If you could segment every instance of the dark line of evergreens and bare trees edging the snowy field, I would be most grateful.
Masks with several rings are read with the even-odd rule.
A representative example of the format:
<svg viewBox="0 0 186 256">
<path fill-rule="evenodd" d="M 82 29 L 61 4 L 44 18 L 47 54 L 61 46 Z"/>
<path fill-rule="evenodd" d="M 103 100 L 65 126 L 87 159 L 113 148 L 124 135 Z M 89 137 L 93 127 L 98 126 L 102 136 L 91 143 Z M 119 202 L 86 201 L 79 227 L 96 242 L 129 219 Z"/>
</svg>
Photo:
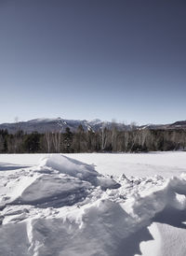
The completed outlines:
<svg viewBox="0 0 186 256">
<path fill-rule="evenodd" d="M 8 134 L 0 130 L 0 153 L 78 153 L 78 152 L 140 152 L 186 149 L 186 129 L 136 129 L 119 131 L 102 128 L 76 132 L 66 128 L 65 133 L 46 132 L 25 134 L 19 130 Z"/>
</svg>

